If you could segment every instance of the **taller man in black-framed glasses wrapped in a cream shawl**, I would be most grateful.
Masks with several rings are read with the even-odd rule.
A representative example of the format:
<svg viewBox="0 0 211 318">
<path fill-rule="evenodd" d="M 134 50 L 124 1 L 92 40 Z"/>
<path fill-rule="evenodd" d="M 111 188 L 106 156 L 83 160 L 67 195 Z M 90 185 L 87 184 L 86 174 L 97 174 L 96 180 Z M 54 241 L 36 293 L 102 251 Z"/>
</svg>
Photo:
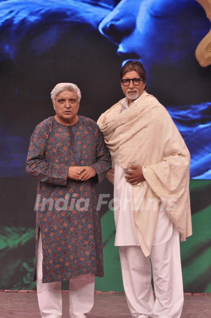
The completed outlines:
<svg viewBox="0 0 211 318">
<path fill-rule="evenodd" d="M 98 120 L 110 150 L 115 245 L 133 318 L 179 318 L 183 306 L 180 243 L 192 234 L 190 155 L 165 107 L 146 93 L 143 65 L 120 71 L 125 98 Z M 151 265 L 156 300 L 151 285 Z"/>
</svg>

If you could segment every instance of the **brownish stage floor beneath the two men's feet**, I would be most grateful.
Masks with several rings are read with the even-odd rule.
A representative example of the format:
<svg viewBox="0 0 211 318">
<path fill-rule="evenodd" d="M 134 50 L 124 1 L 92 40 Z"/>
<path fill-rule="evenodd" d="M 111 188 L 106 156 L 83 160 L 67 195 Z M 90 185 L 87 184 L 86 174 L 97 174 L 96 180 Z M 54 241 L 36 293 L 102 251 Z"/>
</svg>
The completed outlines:
<svg viewBox="0 0 211 318">
<path fill-rule="evenodd" d="M 68 293 L 62 293 L 63 316 L 69 318 Z M 124 294 L 95 293 L 95 304 L 87 318 L 131 318 Z M 1 318 L 40 318 L 35 292 L 0 291 Z M 181 318 L 210 318 L 211 294 L 187 295 Z"/>
</svg>

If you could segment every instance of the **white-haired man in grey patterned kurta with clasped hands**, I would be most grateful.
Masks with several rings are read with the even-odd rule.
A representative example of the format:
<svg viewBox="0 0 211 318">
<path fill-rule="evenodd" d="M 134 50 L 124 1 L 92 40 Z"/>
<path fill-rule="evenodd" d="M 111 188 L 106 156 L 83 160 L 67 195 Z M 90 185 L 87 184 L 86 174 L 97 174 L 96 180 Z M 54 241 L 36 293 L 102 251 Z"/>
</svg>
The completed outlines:
<svg viewBox="0 0 211 318">
<path fill-rule="evenodd" d="M 97 124 L 79 116 L 77 85 L 51 92 L 55 116 L 35 128 L 26 170 L 38 180 L 36 215 L 37 297 L 43 318 L 62 317 L 61 280 L 70 280 L 70 317 L 93 306 L 95 276 L 103 276 L 96 183 L 111 168 Z"/>
</svg>

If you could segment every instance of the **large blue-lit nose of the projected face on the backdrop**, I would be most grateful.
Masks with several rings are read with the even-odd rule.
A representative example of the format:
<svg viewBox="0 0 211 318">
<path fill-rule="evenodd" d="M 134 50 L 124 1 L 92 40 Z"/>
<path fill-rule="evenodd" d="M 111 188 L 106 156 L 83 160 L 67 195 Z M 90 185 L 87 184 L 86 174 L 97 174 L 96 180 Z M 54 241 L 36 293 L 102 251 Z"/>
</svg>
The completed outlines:
<svg viewBox="0 0 211 318">
<path fill-rule="evenodd" d="M 99 31 L 115 43 L 132 33 L 140 1 L 122 0 L 99 24 Z"/>
</svg>

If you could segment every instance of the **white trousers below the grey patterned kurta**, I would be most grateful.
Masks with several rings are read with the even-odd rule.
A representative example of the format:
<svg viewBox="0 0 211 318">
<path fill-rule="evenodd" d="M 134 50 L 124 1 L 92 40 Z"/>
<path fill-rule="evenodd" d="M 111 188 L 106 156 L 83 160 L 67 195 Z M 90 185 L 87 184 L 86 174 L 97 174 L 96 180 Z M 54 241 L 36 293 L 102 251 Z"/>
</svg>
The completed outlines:
<svg viewBox="0 0 211 318">
<path fill-rule="evenodd" d="M 37 298 L 42 318 L 62 317 L 61 281 L 42 283 L 42 241 L 39 232 L 37 248 Z M 70 318 L 85 318 L 94 305 L 95 274 L 85 274 L 70 279 Z"/>
</svg>

